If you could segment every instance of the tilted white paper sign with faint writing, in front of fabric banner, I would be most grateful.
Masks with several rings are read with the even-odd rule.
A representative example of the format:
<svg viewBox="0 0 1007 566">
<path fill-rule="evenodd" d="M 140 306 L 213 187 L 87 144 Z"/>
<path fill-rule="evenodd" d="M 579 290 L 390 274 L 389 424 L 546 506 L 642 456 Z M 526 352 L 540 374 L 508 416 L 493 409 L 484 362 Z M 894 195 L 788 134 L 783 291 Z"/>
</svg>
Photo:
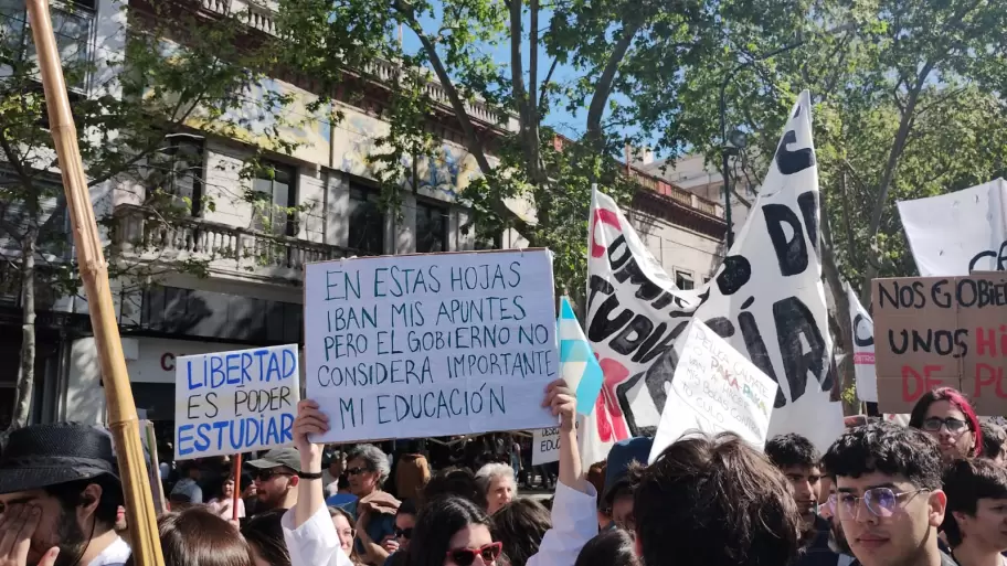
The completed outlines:
<svg viewBox="0 0 1007 566">
<path fill-rule="evenodd" d="M 722 338 L 693 320 L 675 369 L 650 459 L 683 435 L 734 432 L 765 446 L 778 386 Z"/>
</svg>

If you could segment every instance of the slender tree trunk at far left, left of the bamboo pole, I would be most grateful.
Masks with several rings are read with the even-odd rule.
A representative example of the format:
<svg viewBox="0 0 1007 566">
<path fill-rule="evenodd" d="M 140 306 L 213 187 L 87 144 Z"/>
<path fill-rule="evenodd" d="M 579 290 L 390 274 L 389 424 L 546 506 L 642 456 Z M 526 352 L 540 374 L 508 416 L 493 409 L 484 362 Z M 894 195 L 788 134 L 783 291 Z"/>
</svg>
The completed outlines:
<svg viewBox="0 0 1007 566">
<path fill-rule="evenodd" d="M 21 364 L 18 366 L 14 414 L 11 428 L 30 424 L 32 389 L 35 382 L 35 245 L 39 228 L 35 214 L 21 244 Z"/>
</svg>

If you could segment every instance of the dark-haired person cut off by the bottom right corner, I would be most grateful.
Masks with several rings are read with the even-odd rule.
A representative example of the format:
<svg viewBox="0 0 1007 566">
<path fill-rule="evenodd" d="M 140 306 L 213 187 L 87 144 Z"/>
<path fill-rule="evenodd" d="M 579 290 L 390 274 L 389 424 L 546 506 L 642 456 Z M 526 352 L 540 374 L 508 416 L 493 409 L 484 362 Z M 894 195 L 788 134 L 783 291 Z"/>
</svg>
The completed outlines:
<svg viewBox="0 0 1007 566">
<path fill-rule="evenodd" d="M 1007 551 L 1007 470 L 989 460 L 958 460 L 944 471 L 943 530 L 958 566 L 1001 565 Z"/>
</svg>

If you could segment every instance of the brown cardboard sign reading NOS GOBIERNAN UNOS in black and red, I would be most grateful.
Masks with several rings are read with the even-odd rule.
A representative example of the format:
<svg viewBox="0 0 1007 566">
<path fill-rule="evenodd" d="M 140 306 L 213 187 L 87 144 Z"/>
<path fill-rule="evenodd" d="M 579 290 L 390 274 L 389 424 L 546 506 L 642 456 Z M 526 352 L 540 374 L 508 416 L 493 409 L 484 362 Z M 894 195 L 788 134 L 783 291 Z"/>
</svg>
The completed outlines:
<svg viewBox="0 0 1007 566">
<path fill-rule="evenodd" d="M 875 279 L 878 406 L 909 413 L 955 387 L 983 416 L 1007 414 L 1007 273 Z"/>
</svg>

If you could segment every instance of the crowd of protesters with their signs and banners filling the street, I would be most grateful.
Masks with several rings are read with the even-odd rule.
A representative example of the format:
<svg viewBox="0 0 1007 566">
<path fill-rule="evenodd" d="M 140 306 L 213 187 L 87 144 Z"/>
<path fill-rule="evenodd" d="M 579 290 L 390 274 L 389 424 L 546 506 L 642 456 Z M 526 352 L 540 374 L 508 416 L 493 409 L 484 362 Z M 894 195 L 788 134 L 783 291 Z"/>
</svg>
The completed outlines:
<svg viewBox="0 0 1007 566">
<path fill-rule="evenodd" d="M 1001 387 L 969 357 L 996 344 L 948 333 L 946 355 L 952 335 L 973 342 L 940 375 L 891 345 L 911 316 L 886 313 L 921 289 L 951 308 L 950 279 L 880 280 L 877 375 L 857 383 L 870 416 L 831 398 L 809 115 L 804 93 L 763 209 L 703 291 L 654 277 L 597 191 L 583 323 L 545 250 L 309 264 L 303 359 L 295 344 L 177 361 L 172 439 L 145 442 L 165 566 L 1007 563 Z M 746 285 L 759 299 L 732 299 Z M 460 320 L 476 311 L 483 327 Z M 434 338 L 400 341 L 414 334 Z M 945 355 L 935 343 L 925 354 Z M 252 393 L 268 403 L 248 410 Z M 134 564 L 114 445 L 91 424 L 7 435 L 0 566 Z M 552 496 L 522 493 L 533 483 Z"/>
</svg>

